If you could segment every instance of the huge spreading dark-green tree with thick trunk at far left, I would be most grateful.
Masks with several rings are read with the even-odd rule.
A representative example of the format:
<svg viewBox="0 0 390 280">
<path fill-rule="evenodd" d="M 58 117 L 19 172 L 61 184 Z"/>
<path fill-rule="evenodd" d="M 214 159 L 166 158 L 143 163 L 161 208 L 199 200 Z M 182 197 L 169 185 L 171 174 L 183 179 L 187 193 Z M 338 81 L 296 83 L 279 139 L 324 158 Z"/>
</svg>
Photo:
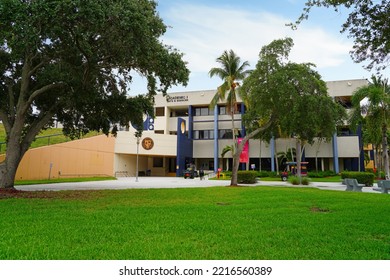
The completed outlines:
<svg viewBox="0 0 390 280">
<path fill-rule="evenodd" d="M 160 40 L 165 31 L 154 1 L 1 0 L 0 187 L 13 188 L 23 155 L 53 118 L 71 136 L 142 127 L 156 92 L 188 80 L 182 54 Z M 146 77 L 148 94 L 128 96 L 133 73 Z"/>
</svg>

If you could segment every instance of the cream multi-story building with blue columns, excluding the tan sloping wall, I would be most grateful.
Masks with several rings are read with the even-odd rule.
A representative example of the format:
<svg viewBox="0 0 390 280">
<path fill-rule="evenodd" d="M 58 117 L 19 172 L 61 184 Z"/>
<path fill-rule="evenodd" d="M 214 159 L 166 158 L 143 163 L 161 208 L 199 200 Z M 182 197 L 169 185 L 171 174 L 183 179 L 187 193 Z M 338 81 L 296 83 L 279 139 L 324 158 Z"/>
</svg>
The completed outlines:
<svg viewBox="0 0 390 280">
<path fill-rule="evenodd" d="M 367 80 L 328 82 L 328 92 L 335 102 L 347 109 L 351 105 L 353 92 L 367 85 Z M 155 119 L 146 119 L 141 143 L 145 138 L 153 141 L 152 149 L 139 149 L 142 158 L 140 170 L 150 170 L 152 175 L 181 175 L 186 165 L 194 163 L 197 168 L 216 171 L 232 166 L 232 155 L 224 159 L 222 150 L 232 145 L 232 120 L 223 102 L 214 109 L 209 105 L 215 90 L 171 93 L 155 98 Z M 238 113 L 234 115 L 234 127 L 239 134 L 245 133 L 241 116 L 245 106 L 238 100 Z M 133 131 L 121 132 L 115 148 L 116 169 L 134 172 L 136 139 Z M 360 131 L 352 132 L 348 126 L 340 129 L 330 142 L 316 141 L 305 145 L 304 160 L 308 168 L 319 170 L 363 170 L 364 153 Z M 120 140 L 122 139 L 122 140 Z M 293 139 L 274 139 L 270 143 L 259 140 L 249 141 L 249 163 L 241 168 L 272 170 L 276 168 L 278 152 L 294 148 Z M 317 160 L 317 164 L 315 164 Z"/>
</svg>

